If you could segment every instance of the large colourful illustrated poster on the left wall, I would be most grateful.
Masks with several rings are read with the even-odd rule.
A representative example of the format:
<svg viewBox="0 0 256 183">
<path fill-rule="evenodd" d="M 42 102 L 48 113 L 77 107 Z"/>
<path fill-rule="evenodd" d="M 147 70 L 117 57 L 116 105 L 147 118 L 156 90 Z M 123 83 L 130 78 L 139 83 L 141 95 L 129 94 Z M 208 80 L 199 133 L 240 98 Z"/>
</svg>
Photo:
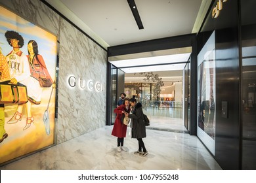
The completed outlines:
<svg viewBox="0 0 256 183">
<path fill-rule="evenodd" d="M 0 6 L 0 165 L 54 144 L 56 36 Z"/>
</svg>

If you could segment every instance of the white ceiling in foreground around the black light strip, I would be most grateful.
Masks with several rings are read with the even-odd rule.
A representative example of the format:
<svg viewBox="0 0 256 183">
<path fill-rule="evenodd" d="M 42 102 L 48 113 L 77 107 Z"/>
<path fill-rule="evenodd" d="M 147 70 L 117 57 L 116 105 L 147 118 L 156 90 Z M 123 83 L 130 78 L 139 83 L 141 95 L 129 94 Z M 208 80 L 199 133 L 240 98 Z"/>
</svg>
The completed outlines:
<svg viewBox="0 0 256 183">
<path fill-rule="evenodd" d="M 127 0 L 46 0 L 104 48 L 196 33 L 211 0 L 135 0 L 139 29 Z"/>
</svg>

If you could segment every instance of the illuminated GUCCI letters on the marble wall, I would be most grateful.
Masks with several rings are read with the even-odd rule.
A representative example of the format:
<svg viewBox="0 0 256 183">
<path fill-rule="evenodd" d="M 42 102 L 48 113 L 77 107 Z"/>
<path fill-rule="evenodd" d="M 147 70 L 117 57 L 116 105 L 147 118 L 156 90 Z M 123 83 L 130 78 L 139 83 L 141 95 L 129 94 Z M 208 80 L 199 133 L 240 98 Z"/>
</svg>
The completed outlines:
<svg viewBox="0 0 256 183">
<path fill-rule="evenodd" d="M 78 86 L 81 90 L 87 88 L 90 91 L 95 90 L 95 92 L 103 92 L 103 84 L 100 84 L 100 82 L 93 82 L 93 80 L 88 80 L 86 82 L 83 78 L 77 79 L 75 76 L 70 76 L 68 78 L 68 85 L 72 88 Z"/>
</svg>

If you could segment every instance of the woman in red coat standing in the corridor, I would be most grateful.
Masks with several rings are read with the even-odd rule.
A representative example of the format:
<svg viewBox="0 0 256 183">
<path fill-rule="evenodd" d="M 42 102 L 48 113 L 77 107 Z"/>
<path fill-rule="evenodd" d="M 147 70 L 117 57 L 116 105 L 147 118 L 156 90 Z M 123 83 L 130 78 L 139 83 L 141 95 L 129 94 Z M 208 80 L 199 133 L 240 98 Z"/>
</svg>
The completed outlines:
<svg viewBox="0 0 256 183">
<path fill-rule="evenodd" d="M 125 148 L 123 148 L 123 140 L 124 137 L 126 137 L 126 130 L 127 130 L 127 125 L 121 123 L 121 116 L 125 113 L 125 112 L 130 112 L 130 104 L 129 104 L 129 99 L 125 98 L 123 100 L 123 105 L 119 105 L 119 107 L 115 108 L 114 112 L 117 114 L 116 115 L 116 120 L 114 123 L 114 127 L 112 130 L 112 135 L 114 135 L 115 137 L 117 137 L 117 151 L 121 152 L 121 150 L 123 151 L 127 151 Z"/>
</svg>

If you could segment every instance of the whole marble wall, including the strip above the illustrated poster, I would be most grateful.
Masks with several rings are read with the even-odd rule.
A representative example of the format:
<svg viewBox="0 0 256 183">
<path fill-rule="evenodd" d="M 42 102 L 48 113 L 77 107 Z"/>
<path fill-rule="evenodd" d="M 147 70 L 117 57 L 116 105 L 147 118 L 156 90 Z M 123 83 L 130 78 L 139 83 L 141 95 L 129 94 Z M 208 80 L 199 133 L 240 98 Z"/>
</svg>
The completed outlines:
<svg viewBox="0 0 256 183">
<path fill-rule="evenodd" d="M 58 37 L 60 44 L 56 143 L 74 139 L 104 126 L 106 51 L 39 0 L 1 0 L 0 5 Z M 77 79 L 77 86 L 74 88 L 68 85 L 68 77 L 71 75 Z M 103 91 L 79 88 L 79 78 L 85 84 L 89 80 L 99 82 Z"/>
</svg>

